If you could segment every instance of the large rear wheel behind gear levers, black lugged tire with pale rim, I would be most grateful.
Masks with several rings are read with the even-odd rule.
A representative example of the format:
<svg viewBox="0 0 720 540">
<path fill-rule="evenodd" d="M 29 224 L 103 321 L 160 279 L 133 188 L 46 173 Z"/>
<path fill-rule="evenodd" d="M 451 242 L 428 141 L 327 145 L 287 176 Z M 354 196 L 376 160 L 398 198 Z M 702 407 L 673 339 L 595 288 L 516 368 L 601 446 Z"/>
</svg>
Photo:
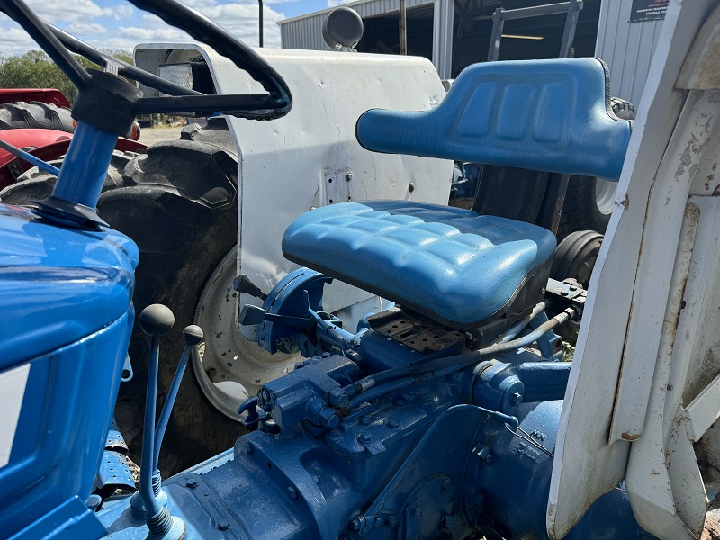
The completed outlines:
<svg viewBox="0 0 720 540">
<path fill-rule="evenodd" d="M 160 453 L 167 475 L 231 447 L 245 432 L 239 402 L 287 373 L 295 359 L 273 358 L 266 366 L 269 355 L 236 329 L 238 154 L 224 119 L 211 119 L 205 128 L 187 126 L 180 139 L 157 143 L 124 164 L 118 159 L 98 213 L 138 244 L 136 315 L 152 303 L 175 313 L 175 326 L 160 345 L 158 407 L 184 348 L 183 329 L 197 322 L 205 333 L 204 355 L 193 356 L 167 426 Z M 25 175 L 25 182 L 0 193 L 3 202 L 49 194 L 53 177 L 36 169 Z M 115 419 L 130 457 L 139 462 L 149 341 L 137 321 L 129 354 L 134 376 L 121 384 Z"/>
</svg>

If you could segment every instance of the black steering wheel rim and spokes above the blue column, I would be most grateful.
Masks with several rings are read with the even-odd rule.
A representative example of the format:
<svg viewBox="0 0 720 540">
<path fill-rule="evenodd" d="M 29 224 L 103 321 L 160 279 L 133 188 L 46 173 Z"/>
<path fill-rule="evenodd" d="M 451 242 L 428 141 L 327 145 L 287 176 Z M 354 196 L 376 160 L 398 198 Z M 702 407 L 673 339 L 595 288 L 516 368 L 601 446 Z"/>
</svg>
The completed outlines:
<svg viewBox="0 0 720 540">
<path fill-rule="evenodd" d="M 186 31 L 195 40 L 210 45 L 220 55 L 232 60 L 237 67 L 247 71 L 267 93 L 207 95 L 189 90 L 112 58 L 84 41 L 77 40 L 65 31 L 42 21 L 31 12 L 23 0 L 0 0 L 0 8 L 23 26 L 81 93 L 94 84 L 94 74 L 92 70 L 86 71 L 69 51 L 80 54 L 103 67 L 116 67 L 118 75 L 169 94 L 167 97 L 139 97 L 133 100 L 133 115 L 157 112 L 175 114 L 220 112 L 251 120 L 273 120 L 283 117 L 290 111 L 293 97 L 283 77 L 253 49 L 228 31 L 222 30 L 204 15 L 176 0 L 151 2 L 130 0 L 130 3 Z"/>
</svg>

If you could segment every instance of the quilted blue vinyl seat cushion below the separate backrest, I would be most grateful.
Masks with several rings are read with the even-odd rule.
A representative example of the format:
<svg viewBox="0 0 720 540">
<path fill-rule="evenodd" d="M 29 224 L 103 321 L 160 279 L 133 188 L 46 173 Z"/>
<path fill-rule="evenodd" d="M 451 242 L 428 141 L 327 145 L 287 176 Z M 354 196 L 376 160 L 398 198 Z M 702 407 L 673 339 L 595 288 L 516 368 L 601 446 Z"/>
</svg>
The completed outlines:
<svg viewBox="0 0 720 540">
<path fill-rule="evenodd" d="M 318 208 L 283 238 L 293 262 L 457 328 L 502 311 L 555 245 L 530 223 L 407 201 Z"/>
</svg>

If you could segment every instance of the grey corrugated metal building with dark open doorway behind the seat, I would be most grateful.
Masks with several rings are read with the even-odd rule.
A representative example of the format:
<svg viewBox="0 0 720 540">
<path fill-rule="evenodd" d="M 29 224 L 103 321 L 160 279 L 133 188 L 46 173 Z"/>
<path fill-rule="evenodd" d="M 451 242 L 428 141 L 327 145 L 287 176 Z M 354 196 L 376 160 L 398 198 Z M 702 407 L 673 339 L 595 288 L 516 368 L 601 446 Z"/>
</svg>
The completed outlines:
<svg viewBox="0 0 720 540">
<path fill-rule="evenodd" d="M 430 58 L 441 78 L 488 58 L 492 14 L 553 0 L 406 0 L 409 54 Z M 360 0 L 347 4 L 365 23 L 361 52 L 397 54 L 399 0 Z M 633 0 L 584 0 L 575 56 L 598 56 L 610 66 L 611 93 L 639 103 L 662 20 L 629 23 Z M 635 2 L 637 4 L 637 1 Z M 329 50 L 322 23 L 333 8 L 281 21 L 286 49 Z M 561 49 L 565 15 L 554 14 L 505 24 L 500 59 L 554 58 Z"/>
</svg>

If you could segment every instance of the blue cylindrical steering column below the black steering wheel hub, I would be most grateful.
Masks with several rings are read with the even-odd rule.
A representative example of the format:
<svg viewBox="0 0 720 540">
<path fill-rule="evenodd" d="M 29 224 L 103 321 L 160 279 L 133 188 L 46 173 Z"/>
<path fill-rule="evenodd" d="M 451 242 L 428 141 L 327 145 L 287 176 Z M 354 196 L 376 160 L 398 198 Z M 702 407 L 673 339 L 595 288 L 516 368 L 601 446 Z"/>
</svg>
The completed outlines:
<svg viewBox="0 0 720 540">
<path fill-rule="evenodd" d="M 95 208 L 117 139 L 117 135 L 78 121 L 52 195 Z"/>
</svg>

